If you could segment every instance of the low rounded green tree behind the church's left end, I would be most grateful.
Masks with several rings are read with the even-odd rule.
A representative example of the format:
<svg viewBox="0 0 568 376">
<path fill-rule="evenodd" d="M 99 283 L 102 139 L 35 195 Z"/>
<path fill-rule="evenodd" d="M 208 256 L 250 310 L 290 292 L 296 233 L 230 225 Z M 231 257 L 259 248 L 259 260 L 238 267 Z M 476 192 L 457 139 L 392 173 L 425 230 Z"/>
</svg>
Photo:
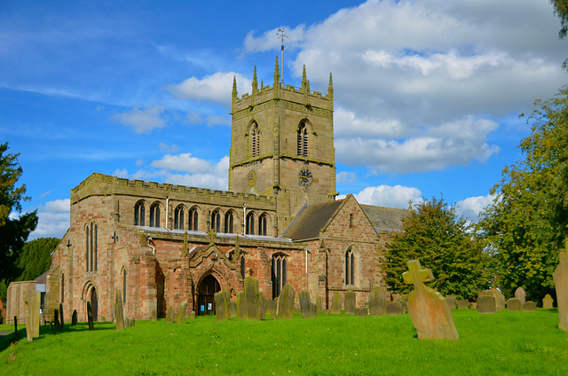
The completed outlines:
<svg viewBox="0 0 568 376">
<path fill-rule="evenodd" d="M 51 267 L 51 253 L 59 246 L 61 239 L 39 238 L 26 242 L 20 257 L 18 267 L 21 270 L 19 281 L 36 279 Z"/>
</svg>

